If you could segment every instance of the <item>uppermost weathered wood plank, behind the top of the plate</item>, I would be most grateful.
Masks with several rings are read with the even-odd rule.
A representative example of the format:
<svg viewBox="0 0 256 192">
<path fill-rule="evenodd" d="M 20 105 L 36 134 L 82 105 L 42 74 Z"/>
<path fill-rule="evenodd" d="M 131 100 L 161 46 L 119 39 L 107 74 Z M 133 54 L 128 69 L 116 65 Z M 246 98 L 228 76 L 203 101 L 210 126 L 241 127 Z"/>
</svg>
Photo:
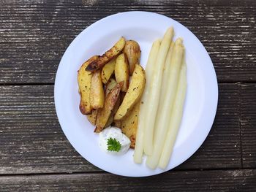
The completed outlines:
<svg viewBox="0 0 256 192">
<path fill-rule="evenodd" d="M 1 1 L 0 83 L 53 83 L 61 56 L 91 23 L 145 10 L 187 26 L 208 50 L 219 82 L 256 80 L 256 3 L 241 1 Z"/>
</svg>

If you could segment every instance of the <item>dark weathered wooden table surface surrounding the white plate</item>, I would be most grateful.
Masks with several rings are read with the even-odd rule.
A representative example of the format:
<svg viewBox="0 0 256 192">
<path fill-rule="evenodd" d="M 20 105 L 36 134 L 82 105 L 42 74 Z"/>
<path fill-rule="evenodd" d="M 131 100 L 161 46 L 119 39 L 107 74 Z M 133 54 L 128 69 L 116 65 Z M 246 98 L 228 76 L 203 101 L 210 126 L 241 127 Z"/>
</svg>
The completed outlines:
<svg viewBox="0 0 256 192">
<path fill-rule="evenodd" d="M 72 39 L 116 12 L 145 10 L 187 26 L 211 56 L 219 104 L 189 160 L 153 177 L 120 177 L 83 159 L 59 126 L 56 70 Z M 0 2 L 0 191 L 255 191 L 256 1 Z"/>
</svg>

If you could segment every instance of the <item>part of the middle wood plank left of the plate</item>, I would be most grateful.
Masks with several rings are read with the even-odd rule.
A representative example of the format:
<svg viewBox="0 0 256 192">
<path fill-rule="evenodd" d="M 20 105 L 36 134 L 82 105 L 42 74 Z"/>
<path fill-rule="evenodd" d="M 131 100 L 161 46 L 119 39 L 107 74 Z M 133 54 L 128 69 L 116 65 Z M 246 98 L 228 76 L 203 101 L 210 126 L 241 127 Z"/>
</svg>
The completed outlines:
<svg viewBox="0 0 256 192">
<path fill-rule="evenodd" d="M 53 85 L 0 86 L 0 122 L 0 174 L 99 170 L 61 131 Z"/>
</svg>

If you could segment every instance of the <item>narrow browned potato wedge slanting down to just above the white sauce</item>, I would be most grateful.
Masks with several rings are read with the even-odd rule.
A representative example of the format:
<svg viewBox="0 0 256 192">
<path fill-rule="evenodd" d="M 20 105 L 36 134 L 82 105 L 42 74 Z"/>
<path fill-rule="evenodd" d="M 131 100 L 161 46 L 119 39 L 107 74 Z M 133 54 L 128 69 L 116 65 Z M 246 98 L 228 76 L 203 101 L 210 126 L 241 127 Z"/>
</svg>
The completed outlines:
<svg viewBox="0 0 256 192">
<path fill-rule="evenodd" d="M 94 132 L 99 133 L 105 128 L 106 123 L 115 107 L 116 101 L 118 100 L 121 87 L 124 82 L 119 82 L 111 91 L 108 93 L 105 99 L 105 104 L 102 109 L 99 110 L 96 120 L 96 128 Z"/>
</svg>

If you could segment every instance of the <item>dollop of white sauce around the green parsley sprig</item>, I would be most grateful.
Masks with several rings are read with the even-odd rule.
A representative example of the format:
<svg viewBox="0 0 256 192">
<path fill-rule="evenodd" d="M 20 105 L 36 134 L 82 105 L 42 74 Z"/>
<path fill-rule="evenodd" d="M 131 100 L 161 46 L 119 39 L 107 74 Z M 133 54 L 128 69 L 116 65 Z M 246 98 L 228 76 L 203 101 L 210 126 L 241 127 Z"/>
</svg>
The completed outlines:
<svg viewBox="0 0 256 192">
<path fill-rule="evenodd" d="M 118 152 L 108 150 L 108 139 L 110 137 L 120 142 L 121 150 Z M 112 155 L 123 155 L 124 153 L 127 153 L 127 150 L 129 150 L 129 145 L 131 145 L 129 138 L 121 133 L 120 128 L 110 126 L 99 133 L 99 147 L 106 153 Z"/>
</svg>

